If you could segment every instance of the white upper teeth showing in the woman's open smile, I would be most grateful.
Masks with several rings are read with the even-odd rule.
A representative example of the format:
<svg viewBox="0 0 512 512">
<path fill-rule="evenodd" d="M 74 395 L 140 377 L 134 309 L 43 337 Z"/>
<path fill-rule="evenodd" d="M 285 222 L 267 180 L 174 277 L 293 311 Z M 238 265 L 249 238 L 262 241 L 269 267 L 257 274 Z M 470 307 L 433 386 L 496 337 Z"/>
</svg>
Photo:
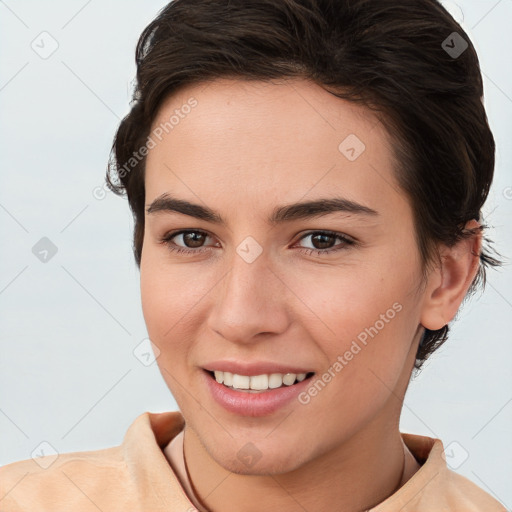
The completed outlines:
<svg viewBox="0 0 512 512">
<path fill-rule="evenodd" d="M 220 370 L 204 370 L 205 373 L 225 388 L 241 393 L 265 393 L 274 389 L 287 388 L 308 380 L 315 372 L 268 373 L 261 375 L 239 375 Z"/>
</svg>

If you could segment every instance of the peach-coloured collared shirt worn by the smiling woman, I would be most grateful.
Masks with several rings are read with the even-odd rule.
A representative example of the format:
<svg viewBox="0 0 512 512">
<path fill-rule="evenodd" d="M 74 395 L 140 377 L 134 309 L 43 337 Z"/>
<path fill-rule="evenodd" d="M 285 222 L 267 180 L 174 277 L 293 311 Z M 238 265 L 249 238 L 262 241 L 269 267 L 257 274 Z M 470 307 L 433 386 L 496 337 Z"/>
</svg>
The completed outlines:
<svg viewBox="0 0 512 512">
<path fill-rule="evenodd" d="M 163 451 L 184 424 L 179 411 L 145 412 L 119 446 L 62 453 L 55 460 L 47 458 L 51 465 L 46 469 L 44 458 L 3 466 L 0 511 L 193 512 L 197 509 Z M 447 467 L 439 439 L 406 433 L 402 439 L 421 468 L 371 512 L 506 512 L 495 498 Z"/>
</svg>

